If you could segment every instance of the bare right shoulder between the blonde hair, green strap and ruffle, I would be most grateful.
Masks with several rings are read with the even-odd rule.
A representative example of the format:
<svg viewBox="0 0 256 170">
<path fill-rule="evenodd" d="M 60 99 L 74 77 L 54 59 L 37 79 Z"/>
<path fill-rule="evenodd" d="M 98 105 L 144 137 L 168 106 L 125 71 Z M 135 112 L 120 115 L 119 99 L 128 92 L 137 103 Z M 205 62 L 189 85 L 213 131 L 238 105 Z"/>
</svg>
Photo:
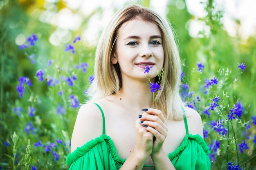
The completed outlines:
<svg viewBox="0 0 256 170">
<path fill-rule="evenodd" d="M 184 107 L 184 110 L 186 112 L 189 134 L 199 134 L 203 138 L 203 126 L 200 114 L 189 107 Z"/>
</svg>

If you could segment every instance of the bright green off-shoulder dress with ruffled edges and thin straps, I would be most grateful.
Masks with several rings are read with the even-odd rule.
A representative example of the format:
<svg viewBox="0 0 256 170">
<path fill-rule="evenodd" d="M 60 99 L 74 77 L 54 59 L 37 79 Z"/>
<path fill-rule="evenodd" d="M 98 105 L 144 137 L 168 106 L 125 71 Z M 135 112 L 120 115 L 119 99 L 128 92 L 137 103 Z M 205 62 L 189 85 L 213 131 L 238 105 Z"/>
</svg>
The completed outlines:
<svg viewBox="0 0 256 170">
<path fill-rule="evenodd" d="M 103 135 L 88 141 L 67 155 L 66 164 L 70 166 L 69 170 L 119 170 L 126 160 L 119 157 L 113 141 L 106 135 L 104 113 L 101 107 L 96 105 L 103 117 Z M 174 152 L 168 154 L 168 158 L 176 170 L 210 170 L 209 147 L 200 135 L 189 135 L 183 108 L 182 111 L 186 136 L 182 144 Z M 154 166 L 144 165 L 144 167 Z"/>
</svg>

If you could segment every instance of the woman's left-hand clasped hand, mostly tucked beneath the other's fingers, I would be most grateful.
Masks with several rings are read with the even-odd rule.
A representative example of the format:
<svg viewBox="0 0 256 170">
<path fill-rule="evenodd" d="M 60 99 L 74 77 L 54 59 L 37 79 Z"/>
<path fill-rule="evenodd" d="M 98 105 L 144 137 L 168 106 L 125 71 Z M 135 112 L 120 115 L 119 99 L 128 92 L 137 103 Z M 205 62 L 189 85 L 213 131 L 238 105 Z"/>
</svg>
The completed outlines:
<svg viewBox="0 0 256 170">
<path fill-rule="evenodd" d="M 139 116 L 140 117 L 140 116 Z M 154 135 L 146 130 L 141 124 L 139 119 L 135 122 L 136 124 L 136 145 L 134 151 L 141 157 L 149 157 L 153 149 L 153 137 Z"/>
</svg>

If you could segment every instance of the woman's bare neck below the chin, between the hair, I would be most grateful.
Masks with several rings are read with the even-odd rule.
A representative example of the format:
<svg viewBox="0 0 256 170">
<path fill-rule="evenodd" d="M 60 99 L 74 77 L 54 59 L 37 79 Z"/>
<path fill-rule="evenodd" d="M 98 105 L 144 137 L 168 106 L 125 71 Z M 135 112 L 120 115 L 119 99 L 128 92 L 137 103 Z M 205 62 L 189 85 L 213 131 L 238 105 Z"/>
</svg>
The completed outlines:
<svg viewBox="0 0 256 170">
<path fill-rule="evenodd" d="M 118 99 L 121 98 L 122 103 L 126 107 L 141 110 L 143 108 L 153 107 L 153 93 L 150 92 L 149 81 L 126 79 L 122 77 L 122 88 L 117 95 Z"/>
</svg>

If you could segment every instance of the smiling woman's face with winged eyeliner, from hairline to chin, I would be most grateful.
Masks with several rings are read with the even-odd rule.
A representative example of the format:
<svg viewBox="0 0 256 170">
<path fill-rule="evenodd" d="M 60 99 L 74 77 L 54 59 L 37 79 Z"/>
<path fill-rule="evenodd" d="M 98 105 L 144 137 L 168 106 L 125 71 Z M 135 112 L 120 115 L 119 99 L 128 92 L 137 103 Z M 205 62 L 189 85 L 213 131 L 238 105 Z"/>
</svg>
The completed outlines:
<svg viewBox="0 0 256 170">
<path fill-rule="evenodd" d="M 145 66 L 150 68 L 150 78 L 156 77 L 164 64 L 162 35 L 156 24 L 140 19 L 125 22 L 119 29 L 112 64 L 119 63 L 122 78 L 145 79 Z"/>
</svg>

